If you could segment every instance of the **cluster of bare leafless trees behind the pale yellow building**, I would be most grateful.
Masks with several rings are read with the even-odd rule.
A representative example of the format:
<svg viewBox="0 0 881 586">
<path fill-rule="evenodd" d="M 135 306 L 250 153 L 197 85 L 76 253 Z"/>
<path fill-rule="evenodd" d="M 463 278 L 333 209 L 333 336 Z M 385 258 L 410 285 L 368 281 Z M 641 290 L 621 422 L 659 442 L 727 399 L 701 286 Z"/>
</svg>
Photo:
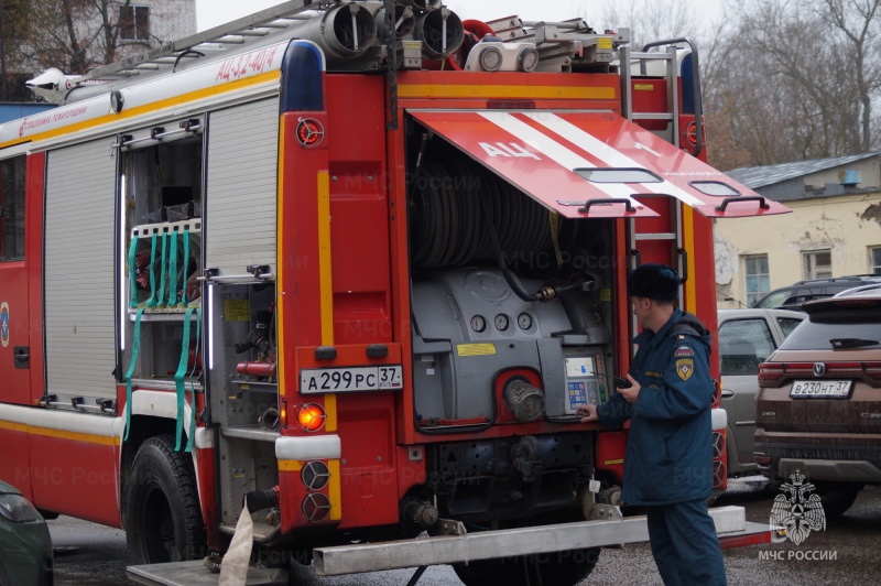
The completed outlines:
<svg viewBox="0 0 881 586">
<path fill-rule="evenodd" d="M 607 8 L 601 24 L 631 26 L 634 48 L 650 39 L 696 41 L 714 165 L 879 146 L 872 104 L 881 94 L 881 0 L 728 0 L 717 23 L 696 18 L 696 8 L 638 0 Z"/>
</svg>

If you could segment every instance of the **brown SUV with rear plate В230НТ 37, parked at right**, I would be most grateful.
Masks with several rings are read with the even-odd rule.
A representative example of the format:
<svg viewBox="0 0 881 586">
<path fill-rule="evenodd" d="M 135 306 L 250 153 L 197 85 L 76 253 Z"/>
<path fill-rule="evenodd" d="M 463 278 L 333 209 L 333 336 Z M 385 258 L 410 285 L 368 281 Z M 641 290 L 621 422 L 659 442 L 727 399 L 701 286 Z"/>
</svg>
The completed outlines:
<svg viewBox="0 0 881 586">
<path fill-rule="evenodd" d="M 836 517 L 881 484 L 881 289 L 802 310 L 807 321 L 759 366 L 753 449 L 772 488 L 805 475 Z"/>
</svg>

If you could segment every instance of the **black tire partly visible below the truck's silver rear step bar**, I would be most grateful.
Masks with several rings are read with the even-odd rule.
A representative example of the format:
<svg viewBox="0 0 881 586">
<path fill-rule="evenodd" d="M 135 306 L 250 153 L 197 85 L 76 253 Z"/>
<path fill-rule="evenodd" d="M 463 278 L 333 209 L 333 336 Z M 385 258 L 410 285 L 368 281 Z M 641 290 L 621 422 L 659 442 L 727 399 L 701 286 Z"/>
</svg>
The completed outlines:
<svg viewBox="0 0 881 586">
<path fill-rule="evenodd" d="M 454 564 L 453 569 L 466 586 L 575 586 L 594 571 L 598 558 L 599 549 L 591 547 Z"/>
</svg>

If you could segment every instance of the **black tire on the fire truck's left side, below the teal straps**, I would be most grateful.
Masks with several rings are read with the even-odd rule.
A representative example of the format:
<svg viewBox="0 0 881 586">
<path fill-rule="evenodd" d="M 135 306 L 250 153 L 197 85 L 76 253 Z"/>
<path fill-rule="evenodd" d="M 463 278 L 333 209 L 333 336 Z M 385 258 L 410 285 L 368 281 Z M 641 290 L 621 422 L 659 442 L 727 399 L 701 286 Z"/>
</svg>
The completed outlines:
<svg viewBox="0 0 881 586">
<path fill-rule="evenodd" d="M 174 451 L 174 438 L 144 442 L 132 463 L 126 498 L 126 543 L 133 564 L 205 556 L 205 525 L 193 456 Z"/>
</svg>

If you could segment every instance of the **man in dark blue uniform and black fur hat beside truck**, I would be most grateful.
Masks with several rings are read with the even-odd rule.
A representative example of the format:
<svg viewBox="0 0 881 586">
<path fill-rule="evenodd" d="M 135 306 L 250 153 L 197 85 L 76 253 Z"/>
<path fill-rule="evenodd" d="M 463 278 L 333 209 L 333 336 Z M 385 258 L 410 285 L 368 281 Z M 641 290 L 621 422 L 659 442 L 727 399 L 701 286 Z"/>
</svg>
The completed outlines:
<svg viewBox="0 0 881 586">
<path fill-rule="evenodd" d="M 676 307 L 681 280 L 665 264 L 631 271 L 627 289 L 642 332 L 630 387 L 602 405 L 578 409 L 583 422 L 619 427 L 630 420 L 621 500 L 645 507 L 649 540 L 664 584 L 725 585 L 713 490 L 710 334 Z"/>
</svg>

